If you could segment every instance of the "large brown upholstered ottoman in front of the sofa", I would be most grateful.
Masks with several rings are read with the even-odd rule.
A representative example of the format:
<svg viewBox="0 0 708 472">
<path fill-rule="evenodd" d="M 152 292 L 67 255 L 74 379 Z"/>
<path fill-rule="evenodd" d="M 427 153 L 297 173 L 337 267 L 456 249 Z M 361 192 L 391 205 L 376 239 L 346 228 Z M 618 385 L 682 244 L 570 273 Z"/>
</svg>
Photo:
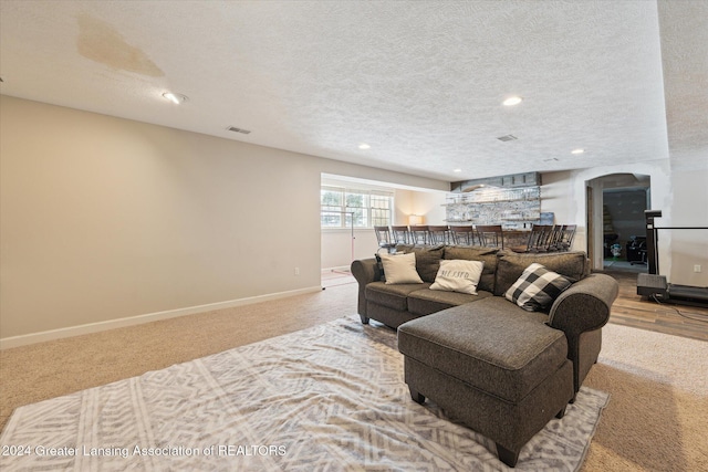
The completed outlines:
<svg viewBox="0 0 708 472">
<path fill-rule="evenodd" d="M 497 444 L 514 466 L 519 452 L 573 399 L 573 366 L 563 332 L 501 297 L 480 300 L 404 323 L 398 350 L 405 381 Z"/>
</svg>

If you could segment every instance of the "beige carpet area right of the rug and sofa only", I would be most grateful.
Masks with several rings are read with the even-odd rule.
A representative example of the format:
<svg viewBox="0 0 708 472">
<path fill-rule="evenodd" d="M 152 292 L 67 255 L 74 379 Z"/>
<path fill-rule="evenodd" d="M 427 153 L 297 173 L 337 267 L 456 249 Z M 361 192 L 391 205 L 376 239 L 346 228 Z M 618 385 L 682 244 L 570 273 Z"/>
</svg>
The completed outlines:
<svg viewBox="0 0 708 472">
<path fill-rule="evenodd" d="M 612 400 L 585 471 L 708 471 L 708 343 L 616 324 L 603 328 L 584 385 Z"/>
</svg>

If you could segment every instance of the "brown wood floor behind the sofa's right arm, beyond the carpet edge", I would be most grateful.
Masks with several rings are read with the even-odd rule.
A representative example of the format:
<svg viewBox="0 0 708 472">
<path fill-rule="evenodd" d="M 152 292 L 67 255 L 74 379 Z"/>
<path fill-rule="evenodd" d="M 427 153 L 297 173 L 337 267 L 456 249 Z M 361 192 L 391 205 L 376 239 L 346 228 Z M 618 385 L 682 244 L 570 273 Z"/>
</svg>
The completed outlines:
<svg viewBox="0 0 708 472">
<path fill-rule="evenodd" d="M 708 308 L 658 304 L 637 295 L 637 274 L 604 271 L 620 282 L 620 295 L 612 305 L 610 323 L 708 340 Z"/>
</svg>

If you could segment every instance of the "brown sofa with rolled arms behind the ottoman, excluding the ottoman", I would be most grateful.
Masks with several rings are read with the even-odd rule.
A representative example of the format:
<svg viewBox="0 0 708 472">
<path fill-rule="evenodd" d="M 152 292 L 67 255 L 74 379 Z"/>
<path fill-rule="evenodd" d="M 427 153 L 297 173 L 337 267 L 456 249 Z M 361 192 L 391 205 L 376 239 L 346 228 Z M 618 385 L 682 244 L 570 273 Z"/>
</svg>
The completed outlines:
<svg viewBox="0 0 708 472">
<path fill-rule="evenodd" d="M 414 247 L 399 244 L 397 252 L 415 252 L 416 270 L 423 284 L 387 285 L 376 259 L 352 262 L 352 274 L 358 282 L 358 314 L 362 323 L 376 319 L 387 326 L 399 325 L 455 306 L 465 305 L 470 315 L 497 310 L 500 302 L 509 313 L 532 317 L 560 329 L 568 339 L 568 358 L 573 363 L 574 389 L 597 360 L 602 344 L 601 328 L 610 318 L 610 307 L 617 296 L 617 282 L 608 275 L 590 274 L 584 252 L 519 254 L 480 247 Z M 441 259 L 483 261 L 477 286 L 478 295 L 441 292 L 429 289 Z M 550 312 L 527 312 L 503 300 L 504 292 L 531 263 L 539 262 L 550 271 L 573 282 L 553 303 Z M 489 308 L 487 308 L 489 305 Z"/>
</svg>

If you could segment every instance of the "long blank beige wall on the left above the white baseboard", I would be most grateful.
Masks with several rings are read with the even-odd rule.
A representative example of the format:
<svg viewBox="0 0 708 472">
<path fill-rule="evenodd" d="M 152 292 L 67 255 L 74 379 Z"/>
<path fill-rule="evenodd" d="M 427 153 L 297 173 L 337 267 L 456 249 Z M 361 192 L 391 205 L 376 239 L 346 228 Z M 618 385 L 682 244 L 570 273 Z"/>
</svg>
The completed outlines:
<svg viewBox="0 0 708 472">
<path fill-rule="evenodd" d="M 446 185 L 0 99 L 6 340 L 317 290 L 321 172 Z"/>
</svg>

